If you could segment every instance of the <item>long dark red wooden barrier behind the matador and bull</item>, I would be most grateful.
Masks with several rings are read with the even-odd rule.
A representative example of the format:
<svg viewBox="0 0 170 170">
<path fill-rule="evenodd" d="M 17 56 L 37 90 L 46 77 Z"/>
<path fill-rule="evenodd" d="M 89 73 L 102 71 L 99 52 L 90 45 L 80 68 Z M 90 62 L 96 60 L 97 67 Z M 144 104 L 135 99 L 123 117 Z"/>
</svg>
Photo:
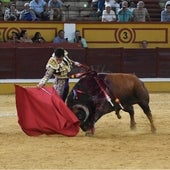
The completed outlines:
<svg viewBox="0 0 170 170">
<path fill-rule="evenodd" d="M 71 59 L 87 64 L 97 72 L 134 73 L 141 78 L 170 77 L 170 49 L 84 49 L 70 44 L 66 48 Z M 37 79 L 55 44 L 0 45 L 0 79 Z"/>
</svg>

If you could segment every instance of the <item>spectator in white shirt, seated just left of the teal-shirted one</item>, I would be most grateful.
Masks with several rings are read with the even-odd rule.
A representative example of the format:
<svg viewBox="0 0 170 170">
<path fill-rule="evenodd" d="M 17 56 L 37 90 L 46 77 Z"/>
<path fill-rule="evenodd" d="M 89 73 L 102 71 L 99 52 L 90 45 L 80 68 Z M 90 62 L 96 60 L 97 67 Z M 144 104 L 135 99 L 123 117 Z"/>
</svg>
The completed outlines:
<svg viewBox="0 0 170 170">
<path fill-rule="evenodd" d="M 116 21 L 116 14 L 111 9 L 111 5 L 107 4 L 105 10 L 103 10 L 102 13 L 102 22 L 112 22 L 112 21 Z"/>
</svg>

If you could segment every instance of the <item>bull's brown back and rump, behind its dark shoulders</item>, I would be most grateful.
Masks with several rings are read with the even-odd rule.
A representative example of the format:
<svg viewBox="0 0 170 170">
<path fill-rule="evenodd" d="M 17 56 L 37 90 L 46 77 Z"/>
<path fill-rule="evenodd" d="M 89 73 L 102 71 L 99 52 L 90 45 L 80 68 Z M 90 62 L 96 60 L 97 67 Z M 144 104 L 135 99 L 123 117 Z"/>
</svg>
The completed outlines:
<svg viewBox="0 0 170 170">
<path fill-rule="evenodd" d="M 134 74 L 110 73 L 106 74 L 104 81 L 111 93 L 119 98 L 139 98 L 149 100 L 144 83 Z M 135 99 L 134 99 L 135 100 Z"/>
</svg>

